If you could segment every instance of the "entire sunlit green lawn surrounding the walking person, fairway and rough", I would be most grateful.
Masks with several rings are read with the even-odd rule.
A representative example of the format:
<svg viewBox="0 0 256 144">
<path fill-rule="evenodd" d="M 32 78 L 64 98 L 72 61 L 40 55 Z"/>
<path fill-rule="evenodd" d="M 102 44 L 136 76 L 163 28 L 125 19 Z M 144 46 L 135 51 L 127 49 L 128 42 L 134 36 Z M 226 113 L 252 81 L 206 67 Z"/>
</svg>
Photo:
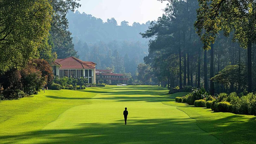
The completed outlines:
<svg viewBox="0 0 256 144">
<path fill-rule="evenodd" d="M 176 103 L 157 86 L 46 90 L 0 102 L 0 143 L 253 143 L 255 117 Z M 122 112 L 129 111 L 127 125 Z M 250 127 L 249 127 L 250 126 Z"/>
</svg>

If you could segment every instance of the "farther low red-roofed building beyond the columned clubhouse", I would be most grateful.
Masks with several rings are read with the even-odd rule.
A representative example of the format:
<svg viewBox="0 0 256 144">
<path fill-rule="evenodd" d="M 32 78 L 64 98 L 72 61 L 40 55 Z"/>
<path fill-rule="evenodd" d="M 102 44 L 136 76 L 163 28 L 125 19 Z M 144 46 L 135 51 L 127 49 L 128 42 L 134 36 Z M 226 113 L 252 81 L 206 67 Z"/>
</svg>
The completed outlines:
<svg viewBox="0 0 256 144">
<path fill-rule="evenodd" d="M 103 80 L 105 84 L 127 84 L 127 78 L 123 74 L 114 74 L 112 70 L 96 69 L 96 84 Z"/>
</svg>

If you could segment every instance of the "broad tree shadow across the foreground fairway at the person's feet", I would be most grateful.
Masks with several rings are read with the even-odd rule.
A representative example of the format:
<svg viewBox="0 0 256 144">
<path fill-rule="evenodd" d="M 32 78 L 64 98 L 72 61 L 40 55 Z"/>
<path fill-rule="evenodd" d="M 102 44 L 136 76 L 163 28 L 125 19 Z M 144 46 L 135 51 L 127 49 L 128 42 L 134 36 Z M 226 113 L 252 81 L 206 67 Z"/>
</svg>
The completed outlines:
<svg viewBox="0 0 256 144">
<path fill-rule="evenodd" d="M 63 127 L 61 127 L 63 128 Z M 68 129 L 43 129 L 17 135 L 0 136 L 7 143 L 221 143 L 215 137 L 199 129 L 191 118 L 128 119 L 112 123 L 84 123 Z"/>
</svg>

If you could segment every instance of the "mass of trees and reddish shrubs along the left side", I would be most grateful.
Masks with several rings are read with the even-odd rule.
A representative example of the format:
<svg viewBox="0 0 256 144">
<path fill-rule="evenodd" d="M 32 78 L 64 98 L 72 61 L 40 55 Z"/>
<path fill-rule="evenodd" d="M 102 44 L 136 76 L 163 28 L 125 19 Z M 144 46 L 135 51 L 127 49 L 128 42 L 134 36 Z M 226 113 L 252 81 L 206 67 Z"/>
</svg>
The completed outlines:
<svg viewBox="0 0 256 144">
<path fill-rule="evenodd" d="M 0 1 L 0 100 L 36 94 L 50 85 L 50 64 L 77 56 L 66 14 L 76 0 Z"/>
</svg>

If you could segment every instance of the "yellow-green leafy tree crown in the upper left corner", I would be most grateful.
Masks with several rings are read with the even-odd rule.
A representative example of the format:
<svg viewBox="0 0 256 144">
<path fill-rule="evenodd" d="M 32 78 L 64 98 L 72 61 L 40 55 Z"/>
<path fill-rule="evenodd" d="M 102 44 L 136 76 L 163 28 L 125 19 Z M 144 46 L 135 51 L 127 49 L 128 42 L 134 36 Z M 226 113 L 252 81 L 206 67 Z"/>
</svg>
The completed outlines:
<svg viewBox="0 0 256 144">
<path fill-rule="evenodd" d="M 0 1 L 0 74 L 22 69 L 47 40 L 52 7 L 48 0 Z"/>
</svg>

